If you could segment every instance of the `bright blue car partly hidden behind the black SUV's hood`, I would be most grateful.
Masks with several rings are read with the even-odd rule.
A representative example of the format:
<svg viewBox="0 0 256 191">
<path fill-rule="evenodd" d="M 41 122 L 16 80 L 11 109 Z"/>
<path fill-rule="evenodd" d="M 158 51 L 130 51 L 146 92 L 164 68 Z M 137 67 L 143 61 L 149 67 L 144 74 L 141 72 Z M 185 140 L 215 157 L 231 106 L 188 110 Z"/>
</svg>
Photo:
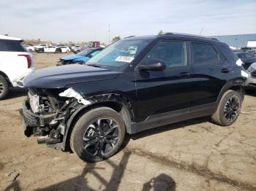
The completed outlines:
<svg viewBox="0 0 256 191">
<path fill-rule="evenodd" d="M 102 47 L 88 48 L 86 50 L 83 50 L 82 52 L 79 52 L 76 55 L 64 56 L 59 59 L 57 66 L 73 64 L 73 63 L 84 64 L 84 63 L 86 63 L 86 61 L 88 61 L 90 58 L 94 57 L 94 55 L 97 55 L 97 53 L 99 53 L 102 50 L 103 50 Z"/>
</svg>

